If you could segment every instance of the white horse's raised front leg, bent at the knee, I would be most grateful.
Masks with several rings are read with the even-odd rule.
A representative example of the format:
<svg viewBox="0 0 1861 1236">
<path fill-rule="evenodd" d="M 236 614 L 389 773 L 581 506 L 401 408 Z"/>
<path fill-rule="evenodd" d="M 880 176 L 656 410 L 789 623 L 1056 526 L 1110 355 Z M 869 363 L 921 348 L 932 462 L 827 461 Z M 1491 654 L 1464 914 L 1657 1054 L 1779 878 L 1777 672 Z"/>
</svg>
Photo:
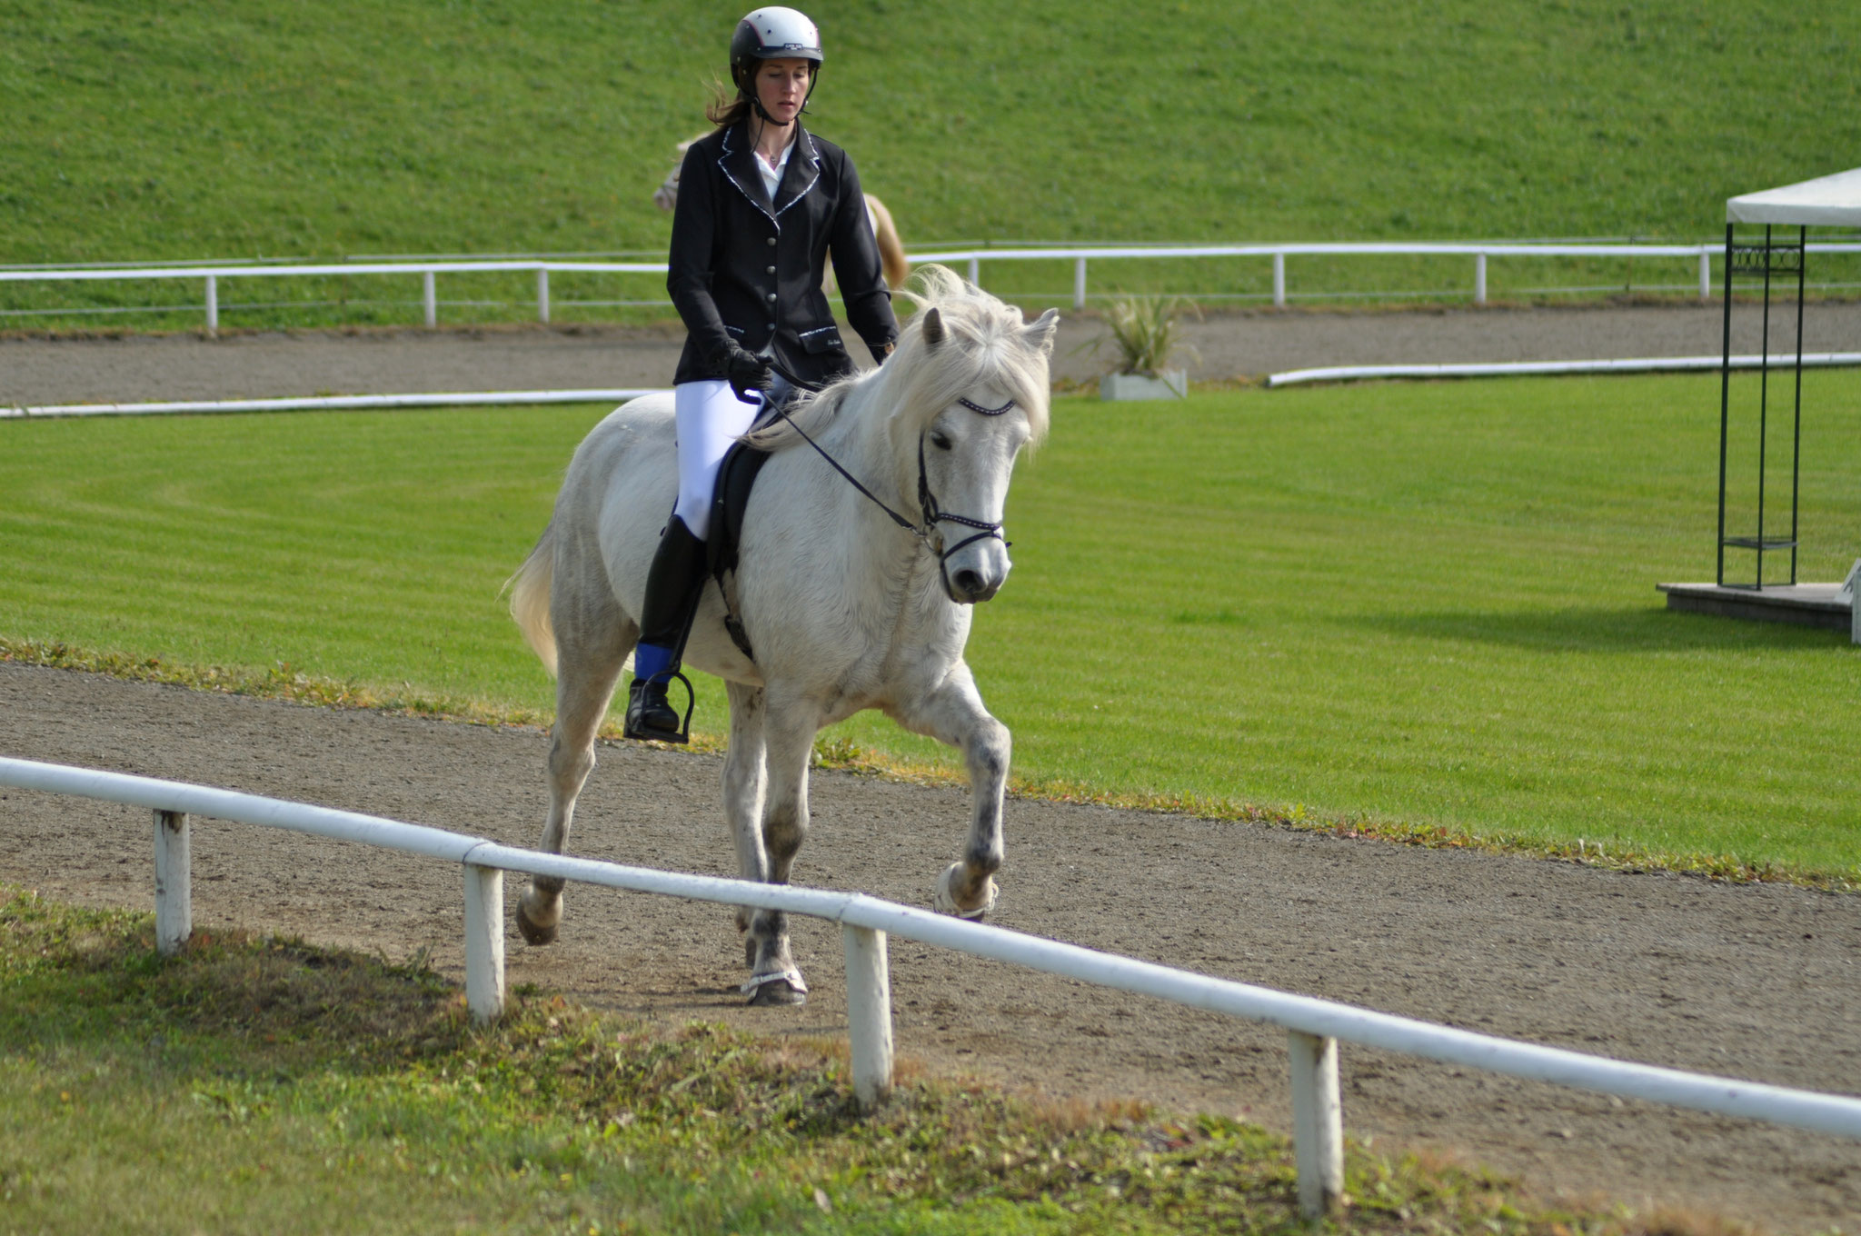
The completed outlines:
<svg viewBox="0 0 1861 1236">
<path fill-rule="evenodd" d="M 962 860 L 944 869 L 936 882 L 936 908 L 962 918 L 983 918 L 996 905 L 996 871 L 1001 869 L 1001 799 L 1009 786 L 1009 728 L 988 715 L 975 679 L 962 663 L 929 694 L 901 704 L 893 717 L 917 733 L 962 752 L 970 769 L 970 840 Z"/>
</svg>

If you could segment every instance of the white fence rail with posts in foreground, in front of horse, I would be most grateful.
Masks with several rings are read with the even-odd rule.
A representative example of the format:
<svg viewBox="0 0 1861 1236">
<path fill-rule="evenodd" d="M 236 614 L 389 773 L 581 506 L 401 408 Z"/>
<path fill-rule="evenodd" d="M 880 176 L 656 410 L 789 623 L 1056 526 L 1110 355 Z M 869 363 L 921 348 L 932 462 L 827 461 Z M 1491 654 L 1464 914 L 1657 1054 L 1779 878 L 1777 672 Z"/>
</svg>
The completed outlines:
<svg viewBox="0 0 1861 1236">
<path fill-rule="evenodd" d="M 32 759 L 0 758 L 0 786 L 78 795 L 154 812 L 154 934 L 164 953 L 179 949 L 192 931 L 190 815 L 288 828 L 456 862 L 462 866 L 465 886 L 465 1001 L 478 1020 L 493 1020 L 504 1007 L 502 871 L 837 921 L 847 951 L 852 1085 L 860 1100 L 869 1106 L 891 1087 L 888 934 L 1195 1009 L 1269 1022 L 1288 1033 L 1299 1204 L 1308 1216 L 1327 1212 L 1344 1189 L 1340 1039 L 1533 1082 L 1861 1139 L 1861 1098 L 1656 1068 L 1478 1035 L 1027 936 L 865 893 L 754 884 L 543 854 L 376 815 Z"/>
</svg>

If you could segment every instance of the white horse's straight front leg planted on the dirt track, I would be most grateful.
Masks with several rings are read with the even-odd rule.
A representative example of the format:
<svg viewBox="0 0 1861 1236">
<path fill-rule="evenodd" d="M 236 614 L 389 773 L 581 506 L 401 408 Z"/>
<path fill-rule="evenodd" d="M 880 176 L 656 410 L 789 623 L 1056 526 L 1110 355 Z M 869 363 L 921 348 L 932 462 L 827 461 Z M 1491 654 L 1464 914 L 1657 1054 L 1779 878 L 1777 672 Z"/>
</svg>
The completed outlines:
<svg viewBox="0 0 1861 1236">
<path fill-rule="evenodd" d="M 795 854 L 808 836 L 808 756 L 819 733 L 819 711 L 806 702 L 778 705 L 765 692 L 763 739 L 769 769 L 769 795 L 763 804 L 759 845 L 739 841 L 744 879 L 787 884 Z M 741 836 L 741 834 L 739 834 Z M 754 864 L 754 871 L 752 871 Z M 789 953 L 789 916 L 782 910 L 756 910 L 744 942 L 750 964 L 752 1005 L 804 1003 L 808 985 Z"/>
</svg>

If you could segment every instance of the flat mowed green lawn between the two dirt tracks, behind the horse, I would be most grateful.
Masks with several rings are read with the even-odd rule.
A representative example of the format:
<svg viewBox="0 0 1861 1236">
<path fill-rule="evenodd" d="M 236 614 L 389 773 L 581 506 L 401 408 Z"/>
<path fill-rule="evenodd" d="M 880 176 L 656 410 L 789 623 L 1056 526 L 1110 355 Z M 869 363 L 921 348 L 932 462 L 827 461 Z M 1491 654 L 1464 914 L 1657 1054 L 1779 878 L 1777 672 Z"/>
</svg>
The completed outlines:
<svg viewBox="0 0 1861 1236">
<path fill-rule="evenodd" d="M 1839 579 L 1861 374 L 1803 391 L 1801 573 Z M 1712 577 L 1716 396 L 1679 376 L 1057 400 L 970 642 L 1016 772 L 1855 879 L 1861 650 L 1654 592 Z M 0 637 L 547 711 L 497 592 L 599 415 L 0 424 Z M 830 737 L 955 769 L 877 715 Z"/>
</svg>

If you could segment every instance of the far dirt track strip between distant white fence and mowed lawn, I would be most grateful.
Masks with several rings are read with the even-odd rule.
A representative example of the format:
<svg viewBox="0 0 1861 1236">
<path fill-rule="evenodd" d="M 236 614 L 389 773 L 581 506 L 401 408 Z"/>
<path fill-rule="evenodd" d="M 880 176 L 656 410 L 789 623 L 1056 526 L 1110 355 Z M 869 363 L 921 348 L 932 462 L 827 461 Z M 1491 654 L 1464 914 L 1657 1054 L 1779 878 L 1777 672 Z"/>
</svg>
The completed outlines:
<svg viewBox="0 0 1861 1236">
<path fill-rule="evenodd" d="M 1757 352 L 1759 318 L 1757 305 L 1736 305 L 1734 350 Z M 1239 311 L 1184 318 L 1193 354 L 1180 359 L 1210 380 L 1316 365 L 1718 356 L 1721 329 L 1716 305 Z M 1111 352 L 1089 348 L 1104 331 L 1096 318 L 1063 311 L 1053 374 L 1078 382 L 1102 372 Z M 1772 350 L 1794 348 L 1794 315 L 1774 315 Z M 681 344 L 664 328 L 599 326 L 0 339 L 0 406 L 657 387 L 672 383 Z M 1861 350 L 1861 302 L 1809 305 L 1803 348 Z"/>
</svg>

